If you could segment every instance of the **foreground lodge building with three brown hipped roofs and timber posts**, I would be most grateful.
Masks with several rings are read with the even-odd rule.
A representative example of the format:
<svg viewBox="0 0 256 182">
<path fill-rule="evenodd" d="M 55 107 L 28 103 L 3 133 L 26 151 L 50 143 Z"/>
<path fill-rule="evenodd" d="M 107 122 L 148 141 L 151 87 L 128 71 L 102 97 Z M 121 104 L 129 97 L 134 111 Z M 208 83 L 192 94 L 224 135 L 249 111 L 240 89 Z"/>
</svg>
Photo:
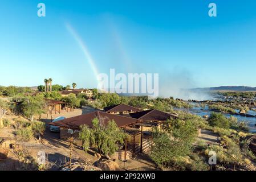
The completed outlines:
<svg viewBox="0 0 256 182">
<path fill-rule="evenodd" d="M 113 120 L 129 136 L 125 139 L 124 146 L 116 151 L 114 158 L 126 160 L 140 152 L 147 152 L 149 150 L 153 144 L 152 127 L 159 127 L 161 130 L 164 121 L 177 117 L 176 115 L 164 113 L 156 109 L 141 111 L 129 105 L 105 107 L 104 110 L 63 119 L 62 121 L 50 123 L 50 125 L 60 127 L 61 139 L 74 137 L 76 144 L 82 146 L 82 141 L 78 139 L 81 125 L 92 127 L 92 120 L 94 118 L 99 119 L 99 121 L 105 124 Z"/>
</svg>

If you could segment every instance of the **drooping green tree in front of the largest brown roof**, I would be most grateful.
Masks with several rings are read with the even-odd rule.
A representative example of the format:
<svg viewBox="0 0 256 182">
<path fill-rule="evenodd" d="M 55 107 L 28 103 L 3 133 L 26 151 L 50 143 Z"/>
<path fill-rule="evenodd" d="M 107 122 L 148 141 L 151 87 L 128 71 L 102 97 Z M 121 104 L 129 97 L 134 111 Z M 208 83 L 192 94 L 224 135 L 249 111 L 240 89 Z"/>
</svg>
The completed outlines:
<svg viewBox="0 0 256 182">
<path fill-rule="evenodd" d="M 84 150 L 94 146 L 97 152 L 105 156 L 112 155 L 118 149 L 117 143 L 124 144 L 125 137 L 127 135 L 117 127 L 115 121 L 109 121 L 105 125 L 104 121 L 99 121 L 97 118 L 92 120 L 92 129 L 83 125 L 79 133 Z"/>
</svg>

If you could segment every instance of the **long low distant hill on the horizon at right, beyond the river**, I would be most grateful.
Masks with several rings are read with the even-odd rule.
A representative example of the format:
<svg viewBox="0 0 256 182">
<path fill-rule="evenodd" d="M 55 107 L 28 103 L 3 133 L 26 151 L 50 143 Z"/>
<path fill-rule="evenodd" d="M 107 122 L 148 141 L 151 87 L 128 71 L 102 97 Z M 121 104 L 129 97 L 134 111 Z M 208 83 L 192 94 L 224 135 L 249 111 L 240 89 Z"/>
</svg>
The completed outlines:
<svg viewBox="0 0 256 182">
<path fill-rule="evenodd" d="M 250 86 L 218 86 L 218 87 L 209 87 L 209 88 L 194 88 L 190 89 L 192 91 L 237 91 L 237 92 L 256 92 L 256 87 Z"/>
</svg>

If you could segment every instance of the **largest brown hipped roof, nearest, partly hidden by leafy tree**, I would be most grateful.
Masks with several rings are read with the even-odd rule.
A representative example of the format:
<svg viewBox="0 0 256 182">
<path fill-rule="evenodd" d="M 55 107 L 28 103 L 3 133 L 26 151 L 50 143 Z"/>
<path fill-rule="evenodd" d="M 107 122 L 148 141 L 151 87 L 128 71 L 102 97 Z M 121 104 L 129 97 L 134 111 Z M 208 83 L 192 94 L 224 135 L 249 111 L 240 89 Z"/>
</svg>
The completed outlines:
<svg viewBox="0 0 256 182">
<path fill-rule="evenodd" d="M 78 115 L 61 121 L 51 122 L 50 125 L 79 130 L 80 125 L 88 125 L 89 127 L 92 127 L 92 119 L 94 118 L 103 119 L 104 123 L 114 120 L 118 127 L 124 127 L 140 121 L 139 119 L 131 117 L 109 114 L 103 111 L 94 111 L 92 113 Z"/>
</svg>

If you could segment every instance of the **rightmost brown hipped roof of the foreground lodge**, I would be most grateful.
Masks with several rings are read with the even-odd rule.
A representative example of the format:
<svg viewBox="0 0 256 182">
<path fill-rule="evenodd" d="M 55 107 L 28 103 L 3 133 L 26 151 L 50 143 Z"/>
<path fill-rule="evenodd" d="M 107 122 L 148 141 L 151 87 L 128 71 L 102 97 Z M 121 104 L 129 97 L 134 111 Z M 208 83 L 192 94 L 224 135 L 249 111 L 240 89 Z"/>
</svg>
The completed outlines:
<svg viewBox="0 0 256 182">
<path fill-rule="evenodd" d="M 170 118 L 176 118 L 175 115 L 168 114 L 156 109 L 130 113 L 129 115 L 131 115 L 132 118 L 141 119 L 142 121 L 166 121 Z"/>
</svg>

